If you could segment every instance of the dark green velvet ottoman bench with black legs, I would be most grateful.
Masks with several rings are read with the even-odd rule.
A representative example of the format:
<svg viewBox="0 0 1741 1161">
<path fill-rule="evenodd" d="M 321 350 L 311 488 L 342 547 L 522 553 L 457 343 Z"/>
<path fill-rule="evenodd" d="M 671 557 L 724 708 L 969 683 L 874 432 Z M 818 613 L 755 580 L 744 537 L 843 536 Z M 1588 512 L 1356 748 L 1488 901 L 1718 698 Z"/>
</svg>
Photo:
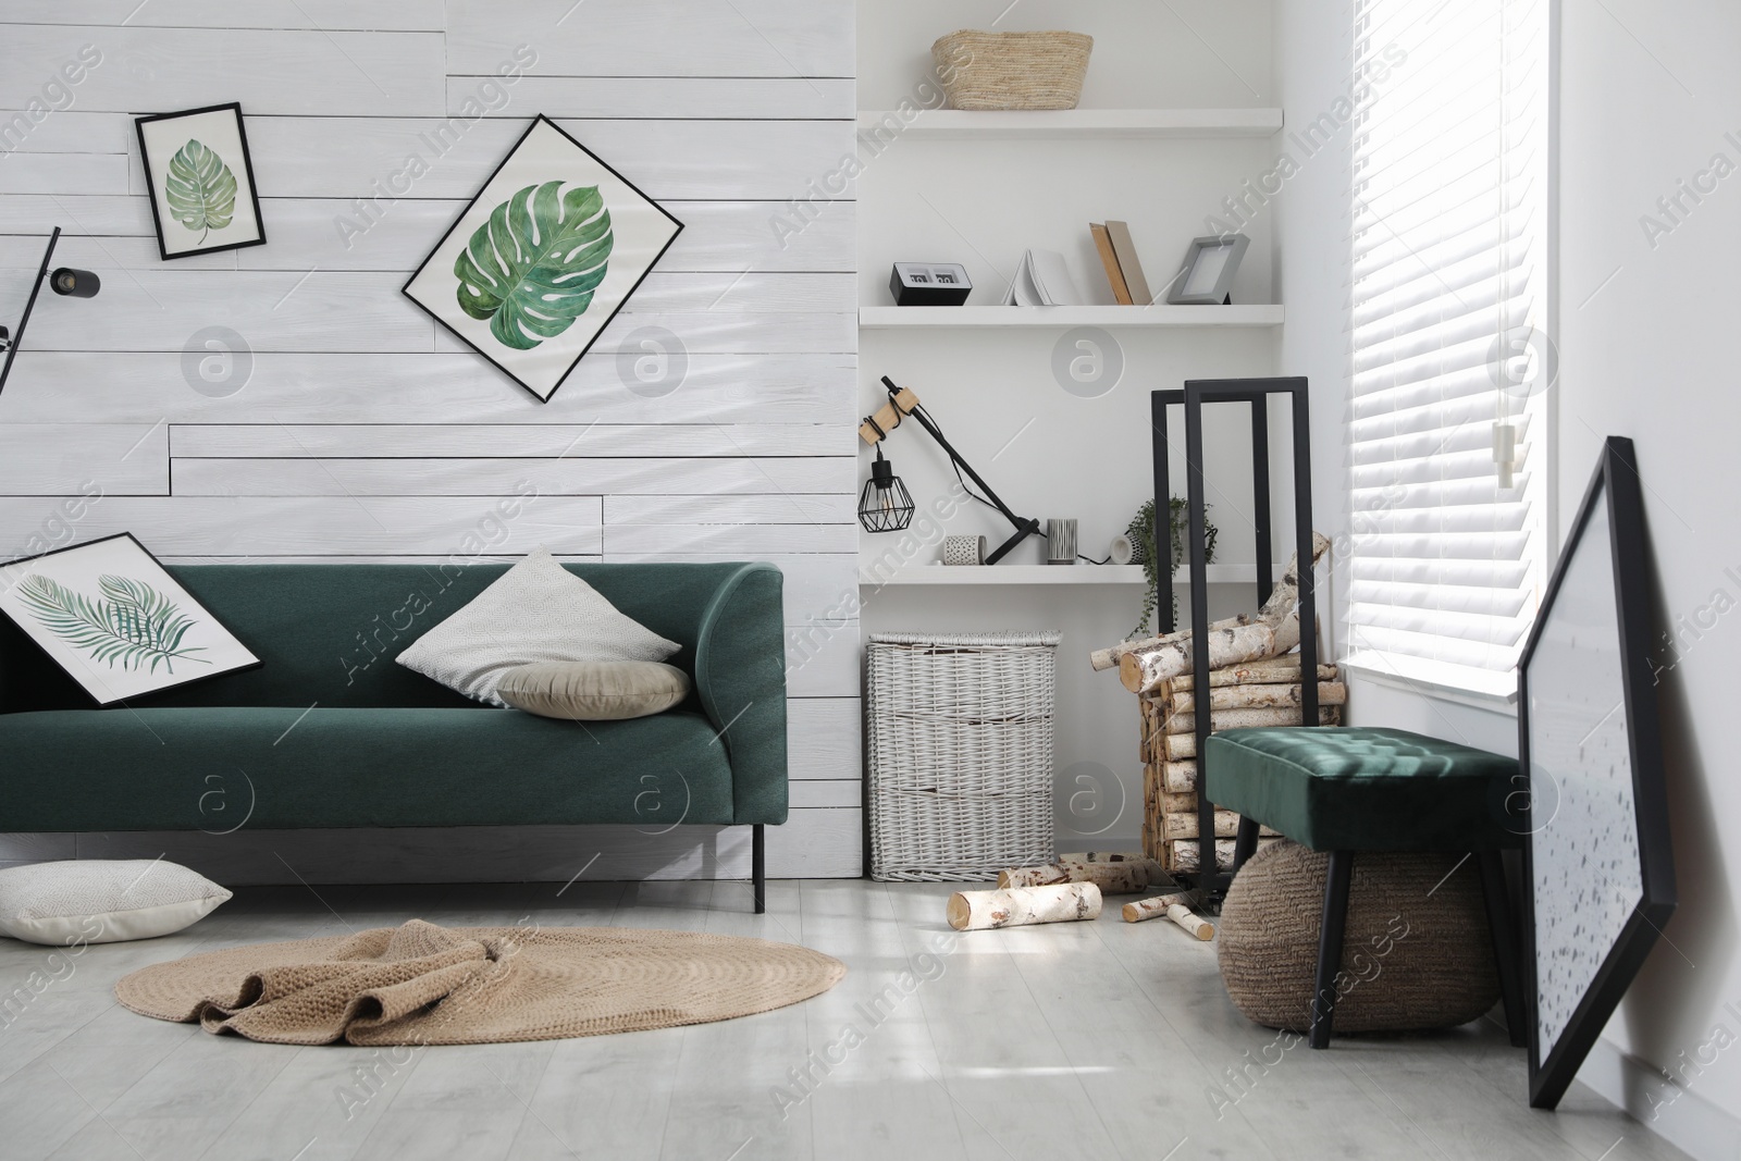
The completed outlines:
<svg viewBox="0 0 1741 1161">
<path fill-rule="evenodd" d="M 1348 886 L 1360 851 L 1464 851 L 1476 860 L 1511 1043 L 1523 1044 L 1523 1003 L 1501 851 L 1522 846 L 1506 829 L 1516 759 L 1403 729 L 1313 726 L 1210 735 L 1205 794 L 1240 815 L 1233 870 L 1269 827 L 1330 853 L 1311 1003 L 1313 1048 L 1330 1044 Z M 1461 865 L 1461 863 L 1459 863 Z"/>
</svg>

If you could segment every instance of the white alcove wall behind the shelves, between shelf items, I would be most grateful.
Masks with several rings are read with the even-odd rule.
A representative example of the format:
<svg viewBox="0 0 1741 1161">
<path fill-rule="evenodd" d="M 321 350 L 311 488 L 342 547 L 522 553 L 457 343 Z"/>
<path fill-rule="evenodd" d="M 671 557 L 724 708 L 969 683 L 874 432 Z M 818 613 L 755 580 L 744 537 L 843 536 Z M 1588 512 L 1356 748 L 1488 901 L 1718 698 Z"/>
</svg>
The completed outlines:
<svg viewBox="0 0 1741 1161">
<path fill-rule="evenodd" d="M 1001 19 L 999 19 L 1001 16 Z M 1081 108 L 1273 106 L 1267 0 L 1156 5 L 1106 0 L 876 0 L 858 5 L 858 104 L 926 104 L 933 40 L 958 28 L 1024 31 L 1069 28 L 1095 38 Z M 930 101 L 935 103 L 935 101 Z M 1111 303 L 1093 252 L 1090 221 L 1125 219 L 1153 287 L 1177 270 L 1205 218 L 1267 160 L 1262 139 L 1236 141 L 924 141 L 897 138 L 870 158 L 858 183 L 858 292 L 890 305 L 890 265 L 956 261 L 968 268 L 971 303 L 996 305 L 1027 247 L 1064 252 L 1092 303 Z M 1236 303 L 1271 303 L 1267 225 L 1233 285 Z M 860 336 L 860 411 L 884 399 L 888 374 L 924 399 L 951 440 L 1012 508 L 1024 515 L 1074 517 L 1081 550 L 1104 557 L 1154 487 L 1149 390 L 1187 378 L 1264 376 L 1274 369 L 1271 331 L 1119 329 L 1125 359 L 1116 388 L 1097 399 L 1067 393 L 1052 372 L 1062 329 L 996 332 L 865 331 Z M 1243 411 L 1243 409 L 1241 409 Z M 1285 430 L 1285 428 L 1278 428 Z M 1184 430 L 1173 430 L 1173 493 L 1184 494 Z M 902 428 L 886 454 L 921 503 L 954 484 L 944 453 Z M 860 479 L 870 454 L 860 453 Z M 1210 517 L 1222 529 L 1222 560 L 1250 562 L 1250 440 L 1241 416 L 1210 416 Z M 980 533 L 996 545 L 1008 524 L 991 508 L 966 507 L 947 533 Z M 877 557 L 897 538 L 862 536 Z M 1012 560 L 1038 564 L 1045 541 Z M 937 559 L 923 548 L 916 564 Z M 1081 566 L 1086 567 L 1086 566 Z M 1142 825 L 1137 705 L 1114 674 L 1088 668 L 1092 649 L 1121 641 L 1135 625 L 1137 585 L 865 590 L 864 628 L 987 632 L 1059 628 L 1059 818 L 1065 849 L 1133 848 Z M 1180 601 L 1186 601 L 1180 590 Z M 1212 614 L 1255 604 L 1245 587 L 1217 585 Z M 1189 606 L 1182 606 L 1187 609 Z M 1088 776 L 1092 787 L 1079 783 Z"/>
</svg>

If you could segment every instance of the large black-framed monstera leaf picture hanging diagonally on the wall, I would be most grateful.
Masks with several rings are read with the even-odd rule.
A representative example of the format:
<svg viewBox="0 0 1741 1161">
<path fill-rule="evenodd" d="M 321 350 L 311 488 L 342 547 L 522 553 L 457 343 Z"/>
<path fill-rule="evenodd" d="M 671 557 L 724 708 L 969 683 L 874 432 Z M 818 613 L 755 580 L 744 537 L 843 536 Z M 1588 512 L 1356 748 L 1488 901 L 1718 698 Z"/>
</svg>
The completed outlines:
<svg viewBox="0 0 1741 1161">
<path fill-rule="evenodd" d="M 682 223 L 538 117 L 406 294 L 548 400 Z"/>
</svg>

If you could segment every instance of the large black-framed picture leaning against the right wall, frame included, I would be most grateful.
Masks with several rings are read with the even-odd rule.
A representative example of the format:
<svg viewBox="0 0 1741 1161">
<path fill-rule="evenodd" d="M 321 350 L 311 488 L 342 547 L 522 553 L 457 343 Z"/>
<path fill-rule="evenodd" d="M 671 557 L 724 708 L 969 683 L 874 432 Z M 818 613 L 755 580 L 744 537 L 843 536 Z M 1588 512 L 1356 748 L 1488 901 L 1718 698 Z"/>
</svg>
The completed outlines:
<svg viewBox="0 0 1741 1161">
<path fill-rule="evenodd" d="M 1644 496 L 1609 437 L 1518 661 L 1529 1097 L 1553 1109 L 1675 910 Z"/>
</svg>

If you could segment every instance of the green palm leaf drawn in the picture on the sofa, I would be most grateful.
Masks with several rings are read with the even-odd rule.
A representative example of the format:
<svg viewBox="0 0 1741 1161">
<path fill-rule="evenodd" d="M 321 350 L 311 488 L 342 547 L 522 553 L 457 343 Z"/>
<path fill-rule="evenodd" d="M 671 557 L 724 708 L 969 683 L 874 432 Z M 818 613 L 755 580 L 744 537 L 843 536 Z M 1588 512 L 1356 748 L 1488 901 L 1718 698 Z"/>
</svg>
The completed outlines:
<svg viewBox="0 0 1741 1161">
<path fill-rule="evenodd" d="M 211 665 L 205 658 L 192 656 L 204 653 L 204 646 L 181 644 L 195 621 L 174 601 L 145 581 L 125 576 L 99 576 L 97 588 L 103 599 L 92 601 L 31 573 L 19 581 L 17 594 L 49 632 L 110 668 L 117 661 L 125 670 L 150 663 L 146 672 L 155 674 L 162 665 L 174 674 L 176 661 Z"/>
</svg>

